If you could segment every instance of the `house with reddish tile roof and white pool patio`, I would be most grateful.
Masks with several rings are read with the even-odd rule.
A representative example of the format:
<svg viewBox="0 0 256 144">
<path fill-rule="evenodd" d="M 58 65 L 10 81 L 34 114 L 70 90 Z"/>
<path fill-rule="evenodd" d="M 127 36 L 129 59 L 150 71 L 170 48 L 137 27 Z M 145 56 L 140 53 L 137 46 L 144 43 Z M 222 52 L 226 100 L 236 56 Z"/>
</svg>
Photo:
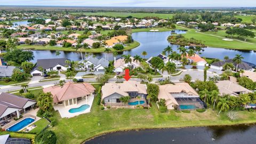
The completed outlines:
<svg viewBox="0 0 256 144">
<path fill-rule="evenodd" d="M 89 83 L 67 82 L 63 86 L 55 85 L 46 87 L 43 91 L 51 92 L 54 109 L 59 111 L 61 117 L 73 117 L 90 112 L 95 88 Z M 87 109 L 79 111 L 79 113 L 70 112 L 71 109 L 81 106 L 87 107 Z"/>
</svg>

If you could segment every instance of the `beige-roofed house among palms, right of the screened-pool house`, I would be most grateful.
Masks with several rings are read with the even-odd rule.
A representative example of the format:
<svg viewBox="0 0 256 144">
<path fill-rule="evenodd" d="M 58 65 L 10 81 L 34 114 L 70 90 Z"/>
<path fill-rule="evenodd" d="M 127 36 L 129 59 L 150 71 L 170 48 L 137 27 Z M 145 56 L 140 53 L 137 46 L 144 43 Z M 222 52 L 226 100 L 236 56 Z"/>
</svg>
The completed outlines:
<svg viewBox="0 0 256 144">
<path fill-rule="evenodd" d="M 239 94 L 252 93 L 252 91 L 245 89 L 243 86 L 230 81 L 218 81 L 216 85 L 221 95 L 230 94 L 237 97 Z"/>
</svg>

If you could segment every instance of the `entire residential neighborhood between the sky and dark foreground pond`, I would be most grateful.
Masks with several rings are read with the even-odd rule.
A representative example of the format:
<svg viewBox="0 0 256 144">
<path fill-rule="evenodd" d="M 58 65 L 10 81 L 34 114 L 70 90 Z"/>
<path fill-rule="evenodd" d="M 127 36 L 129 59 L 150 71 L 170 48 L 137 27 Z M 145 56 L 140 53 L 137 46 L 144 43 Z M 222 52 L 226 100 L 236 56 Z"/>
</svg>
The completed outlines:
<svg viewBox="0 0 256 144">
<path fill-rule="evenodd" d="M 109 13 L 0 11 L 0 139 L 255 122 L 256 16 Z"/>
</svg>

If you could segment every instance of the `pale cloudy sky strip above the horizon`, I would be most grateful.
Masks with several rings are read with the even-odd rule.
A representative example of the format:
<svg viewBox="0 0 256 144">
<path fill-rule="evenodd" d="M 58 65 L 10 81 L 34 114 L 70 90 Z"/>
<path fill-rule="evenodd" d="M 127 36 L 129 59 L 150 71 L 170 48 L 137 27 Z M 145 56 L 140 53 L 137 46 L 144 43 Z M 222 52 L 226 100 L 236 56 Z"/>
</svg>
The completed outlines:
<svg viewBox="0 0 256 144">
<path fill-rule="evenodd" d="M 256 7 L 256 0 L 0 0 L 0 5 L 126 7 Z"/>
</svg>

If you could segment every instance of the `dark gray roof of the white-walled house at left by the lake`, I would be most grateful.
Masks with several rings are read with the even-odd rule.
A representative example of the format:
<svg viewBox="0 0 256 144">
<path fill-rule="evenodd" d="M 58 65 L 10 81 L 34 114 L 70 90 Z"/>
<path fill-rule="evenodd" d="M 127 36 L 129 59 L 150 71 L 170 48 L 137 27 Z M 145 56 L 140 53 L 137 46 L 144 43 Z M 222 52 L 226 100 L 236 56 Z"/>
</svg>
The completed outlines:
<svg viewBox="0 0 256 144">
<path fill-rule="evenodd" d="M 68 60 L 66 58 L 60 59 L 38 59 L 36 62 L 36 66 L 33 70 L 36 70 L 38 67 L 43 67 L 44 69 L 53 68 L 57 65 L 65 66 L 65 61 Z"/>
</svg>

